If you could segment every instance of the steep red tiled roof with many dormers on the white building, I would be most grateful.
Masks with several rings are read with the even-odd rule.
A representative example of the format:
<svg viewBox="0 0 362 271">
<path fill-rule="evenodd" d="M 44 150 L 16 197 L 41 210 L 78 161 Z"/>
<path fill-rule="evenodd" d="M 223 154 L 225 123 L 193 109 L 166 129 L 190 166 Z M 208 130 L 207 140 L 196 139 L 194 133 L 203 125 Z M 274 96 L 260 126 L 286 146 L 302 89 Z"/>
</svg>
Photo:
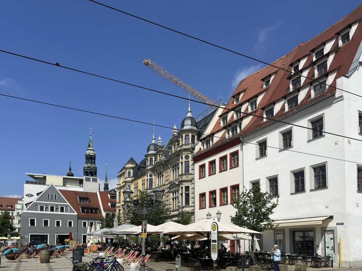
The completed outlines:
<svg viewBox="0 0 362 271">
<path fill-rule="evenodd" d="M 277 72 L 271 81 L 269 85 L 269 89 L 266 90 L 266 93 L 260 100 L 259 104 L 257 105 L 257 109 L 253 112 L 251 112 L 253 115 L 249 123 L 244 127 L 244 129 L 238 133 L 234 137 L 239 137 L 241 135 L 247 134 L 249 132 L 252 132 L 253 130 L 264 126 L 271 121 L 275 119 L 279 119 L 280 117 L 283 117 L 285 115 L 288 115 L 299 108 L 302 108 L 306 106 L 309 103 L 313 103 L 314 101 L 318 99 L 323 99 L 324 97 L 331 95 L 332 93 L 335 93 L 336 89 L 336 78 L 338 76 L 341 76 L 343 74 L 347 74 L 351 65 L 352 61 L 354 59 L 354 56 L 358 50 L 358 47 L 362 40 L 362 22 L 360 22 L 352 36 L 349 42 L 344 44 L 341 47 L 338 47 L 338 39 L 334 36 L 334 34 L 345 27 L 348 27 L 350 23 L 353 23 L 359 18 L 362 18 L 362 5 L 360 5 L 358 8 L 356 8 L 353 12 L 348 14 L 345 18 L 335 23 L 333 26 L 329 27 L 326 31 L 319 34 L 315 38 L 311 39 L 307 43 L 299 44 L 296 48 L 294 48 L 291 52 L 289 52 L 287 55 L 279 58 L 278 60 L 274 61 L 272 63 L 274 66 L 284 68 L 286 70 L 279 70 L 277 72 L 277 68 L 274 68 L 273 66 L 266 66 L 265 68 L 249 75 L 248 77 L 244 78 L 240 81 L 239 85 L 236 87 L 232 97 L 230 98 L 229 102 L 227 103 L 226 109 L 224 109 L 223 113 L 227 112 L 231 108 L 235 107 L 235 104 L 233 104 L 233 96 L 235 96 L 237 93 L 240 93 L 241 91 L 245 90 L 243 93 L 243 96 L 240 99 L 239 104 L 245 104 L 245 102 L 248 102 L 249 99 L 254 98 L 256 95 L 260 94 L 261 92 L 265 91 L 265 89 L 262 89 L 262 82 L 260 81 L 262 78 L 265 78 L 265 76 L 268 76 L 271 73 Z M 332 34 L 331 34 L 332 33 Z M 331 73 L 333 71 L 337 70 L 337 74 L 334 77 L 333 82 L 328 87 L 327 91 L 313 99 L 311 99 L 311 89 L 309 88 L 308 93 L 306 97 L 299 101 L 299 104 L 297 107 L 293 108 L 292 110 L 285 111 L 285 107 L 282 106 L 279 112 L 275 112 L 275 115 L 273 117 L 273 120 L 263 121 L 262 117 L 264 115 L 264 111 L 262 108 L 265 106 L 268 106 L 280 99 L 283 99 L 285 96 L 287 96 L 290 93 L 289 89 L 289 78 L 291 75 L 291 69 L 292 67 L 290 64 L 295 62 L 296 60 L 300 59 L 303 56 L 308 55 L 308 58 L 306 60 L 306 63 L 304 64 L 303 69 L 310 68 L 310 72 L 308 73 L 308 78 L 306 78 L 303 82 L 303 87 L 307 86 L 312 79 L 314 79 L 314 64 L 312 63 L 312 53 L 310 52 L 312 49 L 314 49 L 319 44 L 323 43 L 325 40 L 330 40 L 331 38 L 335 37 L 336 42 L 332 45 L 331 51 L 336 49 L 336 53 L 334 55 L 333 61 L 331 65 L 329 66 L 328 73 Z M 312 79 L 310 79 L 312 78 Z M 319 79 L 318 81 L 324 81 Z M 247 116 L 248 114 L 248 108 L 244 111 L 243 117 Z M 258 117 L 259 116 L 259 117 Z M 233 121 L 233 117 L 231 120 L 228 121 L 228 125 Z M 220 127 L 220 118 L 216 122 L 214 128 L 212 129 L 211 133 L 218 132 L 220 130 L 224 129 L 224 127 Z M 234 137 L 231 137 L 230 139 L 224 139 L 226 132 L 223 132 L 222 138 L 220 138 L 218 141 L 214 143 L 213 146 L 209 147 L 205 150 L 199 150 L 195 153 L 194 156 L 197 156 L 203 152 L 206 152 L 210 149 L 213 149 L 214 147 L 222 144 L 223 142 L 226 142 Z"/>
</svg>

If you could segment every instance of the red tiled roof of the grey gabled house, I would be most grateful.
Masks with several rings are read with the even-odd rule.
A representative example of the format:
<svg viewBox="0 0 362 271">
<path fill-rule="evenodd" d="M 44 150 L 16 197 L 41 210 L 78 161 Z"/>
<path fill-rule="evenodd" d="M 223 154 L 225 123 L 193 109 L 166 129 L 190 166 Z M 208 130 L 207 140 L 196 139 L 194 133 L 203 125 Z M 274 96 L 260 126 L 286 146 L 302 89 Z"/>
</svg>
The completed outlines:
<svg viewBox="0 0 362 271">
<path fill-rule="evenodd" d="M 66 198 L 69 204 L 73 207 L 73 209 L 77 212 L 77 216 L 80 217 L 87 217 L 87 218 L 102 218 L 101 207 L 99 205 L 97 193 L 93 192 L 78 192 L 78 191 L 71 191 L 71 190 L 59 190 L 60 193 Z M 79 203 L 78 197 L 89 198 L 89 203 Z M 97 208 L 98 214 L 89 214 L 89 213 L 82 213 L 81 207 L 85 208 Z"/>
</svg>

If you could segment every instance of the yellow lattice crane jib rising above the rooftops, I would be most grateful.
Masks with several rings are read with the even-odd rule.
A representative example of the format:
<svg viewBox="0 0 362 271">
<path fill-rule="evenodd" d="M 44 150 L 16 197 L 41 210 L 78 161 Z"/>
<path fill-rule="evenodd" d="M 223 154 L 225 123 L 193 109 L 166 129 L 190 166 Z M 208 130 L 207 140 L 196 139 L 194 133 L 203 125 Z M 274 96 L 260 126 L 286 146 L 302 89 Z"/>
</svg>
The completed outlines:
<svg viewBox="0 0 362 271">
<path fill-rule="evenodd" d="M 195 96 L 197 99 L 201 100 L 202 102 L 205 102 L 205 103 L 209 104 L 212 108 L 216 108 L 216 107 L 220 106 L 220 103 L 219 103 L 220 100 L 218 102 L 215 102 L 215 101 L 211 100 L 210 98 L 207 98 L 205 95 L 199 93 L 197 90 L 190 87 L 184 81 L 178 79 L 172 73 L 169 73 L 167 70 L 162 68 L 160 65 L 157 65 L 156 63 L 154 63 L 151 59 L 145 59 L 143 61 L 143 64 L 146 65 L 148 68 L 151 68 L 156 73 L 163 76 L 164 78 L 168 79 L 169 81 L 171 81 L 175 85 L 181 87 L 181 89 L 189 92 L 191 95 Z"/>
</svg>

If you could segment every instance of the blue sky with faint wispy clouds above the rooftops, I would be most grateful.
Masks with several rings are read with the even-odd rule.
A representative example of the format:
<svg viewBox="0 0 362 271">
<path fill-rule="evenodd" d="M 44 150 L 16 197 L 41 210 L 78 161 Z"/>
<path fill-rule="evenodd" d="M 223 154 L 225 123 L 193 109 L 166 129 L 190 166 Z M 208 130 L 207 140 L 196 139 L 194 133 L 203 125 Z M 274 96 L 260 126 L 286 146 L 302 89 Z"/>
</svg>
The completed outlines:
<svg viewBox="0 0 362 271">
<path fill-rule="evenodd" d="M 313 38 L 360 1 L 106 1 L 102 3 L 272 62 Z M 188 94 L 142 64 L 161 65 L 213 100 L 227 102 L 262 64 L 87 0 L 3 1 L 0 49 L 171 93 Z M 185 100 L 0 52 L 0 94 L 180 128 Z M 0 96 L 0 196 L 22 195 L 25 172 L 83 176 L 92 125 L 98 177 L 115 186 L 139 162 L 152 125 Z M 191 103 L 194 116 L 206 109 Z M 163 143 L 172 129 L 155 128 Z"/>
</svg>

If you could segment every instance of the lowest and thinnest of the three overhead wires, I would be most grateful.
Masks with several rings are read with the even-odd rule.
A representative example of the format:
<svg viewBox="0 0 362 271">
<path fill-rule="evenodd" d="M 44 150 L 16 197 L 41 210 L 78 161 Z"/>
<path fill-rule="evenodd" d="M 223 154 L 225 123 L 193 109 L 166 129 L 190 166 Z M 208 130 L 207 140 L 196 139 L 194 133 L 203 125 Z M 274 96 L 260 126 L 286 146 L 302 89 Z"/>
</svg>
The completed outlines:
<svg viewBox="0 0 362 271">
<path fill-rule="evenodd" d="M 119 119 L 119 120 L 126 120 L 126 121 L 141 123 L 141 124 L 153 125 L 153 126 L 157 126 L 157 127 L 161 127 L 161 128 L 167 128 L 167 129 L 172 129 L 172 130 L 174 129 L 173 127 L 157 125 L 157 124 L 154 124 L 154 123 L 149 123 L 149 122 L 144 122 L 144 121 L 139 121 L 139 120 L 132 120 L 132 119 L 107 115 L 107 114 L 103 114 L 103 113 L 97 113 L 97 112 L 93 112 L 93 111 L 89 111 L 89 110 L 83 110 L 83 109 L 74 108 L 74 107 L 61 106 L 59 104 L 52 104 L 52 103 L 46 103 L 46 102 L 41 102 L 41 101 L 37 101 L 37 100 L 25 99 L 25 98 L 21 98 L 21 97 L 17 97 L 17 96 L 11 96 L 11 95 L 1 94 L 1 93 L 0 93 L 0 96 L 5 96 L 5 97 L 8 97 L 8 98 L 14 98 L 14 99 L 20 99 L 20 100 L 24 100 L 24 101 L 28 101 L 28 102 L 33 102 L 33 103 L 46 104 L 48 106 L 55 106 L 55 107 L 60 107 L 60 108 L 65 108 L 65 109 L 71 109 L 71 110 L 85 112 L 85 113 L 91 113 L 91 114 L 95 114 L 95 115 L 99 115 L 99 116 L 111 117 L 111 118 L 115 118 L 115 119 Z M 177 129 L 177 130 L 178 131 L 183 131 L 182 129 Z M 208 135 L 209 134 L 201 134 L 201 136 L 208 136 Z M 218 136 L 214 136 L 214 137 L 220 138 L 220 139 L 229 139 L 229 138 L 226 138 L 226 137 L 218 137 Z M 231 140 L 231 141 L 235 141 L 235 140 L 240 141 L 240 136 L 236 136 L 235 138 L 231 138 L 229 140 Z M 247 142 L 247 141 L 241 141 L 241 143 L 248 143 L 248 144 L 258 145 L 258 143 L 252 143 L 252 142 Z M 334 158 L 334 157 L 329 157 L 329 156 L 324 156 L 324 155 L 319 155 L 319 154 L 312 154 L 312 153 L 309 153 L 309 152 L 294 151 L 294 150 L 290 150 L 290 149 L 282 149 L 280 147 L 273 147 L 273 146 L 269 146 L 269 145 L 267 145 L 266 147 L 269 147 L 269 148 L 272 148 L 272 149 L 278 149 L 278 150 L 291 151 L 291 152 L 295 152 L 295 153 L 299 153 L 299 154 L 306 154 L 306 155 L 323 157 L 323 158 L 328 158 L 328 159 L 333 159 L 333 160 L 339 160 L 339 161 L 344 161 L 344 162 L 349 162 L 349 163 L 354 163 L 354 164 L 362 164 L 361 162 L 354 162 L 354 161 L 344 160 L 344 159 L 340 159 L 340 158 Z"/>
</svg>

